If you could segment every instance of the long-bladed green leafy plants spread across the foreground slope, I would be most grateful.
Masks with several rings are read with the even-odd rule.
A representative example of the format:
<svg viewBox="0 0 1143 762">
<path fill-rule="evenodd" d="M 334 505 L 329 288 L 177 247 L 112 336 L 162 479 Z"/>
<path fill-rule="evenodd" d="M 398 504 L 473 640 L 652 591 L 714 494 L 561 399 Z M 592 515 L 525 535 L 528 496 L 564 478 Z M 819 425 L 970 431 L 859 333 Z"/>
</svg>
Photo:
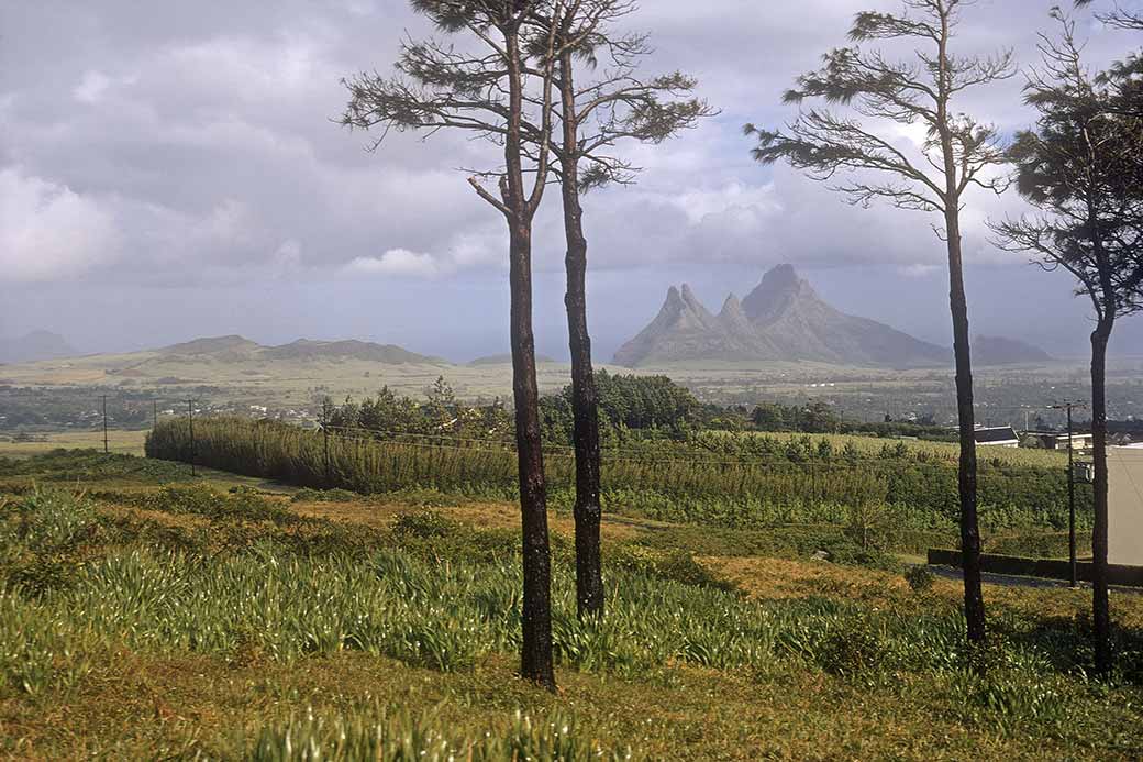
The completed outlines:
<svg viewBox="0 0 1143 762">
<path fill-rule="evenodd" d="M 89 525 L 89 506 L 66 493 L 26 495 L 3 507 L 0 529 L 9 543 L 22 543 L 30 557 L 67 548 L 63 557 L 74 572 L 67 585 L 47 586 L 33 595 L 13 585 L 10 566 L 0 566 L 6 582 L 0 592 L 0 698 L 31 694 L 37 703 L 70 706 L 67 697 L 91 690 L 93 678 L 101 685 L 106 682 L 104 673 L 118 669 L 117 659 L 123 653 L 144 661 L 157 657 L 163 664 L 194 654 L 195 669 L 209 660 L 255 659 L 273 665 L 271 669 L 297 665 L 307 670 L 337 664 L 339 653 L 355 651 L 457 673 L 455 677 L 469 681 L 463 683 L 459 711 L 481 706 L 478 691 L 489 690 L 487 675 L 495 674 L 481 665 L 510 661 L 519 649 L 514 532 L 478 531 L 422 514 L 411 515 L 409 526 L 416 531 L 407 533 L 302 518 L 291 524 L 251 524 L 229 508 L 217 509 L 219 500 L 250 499 L 254 495 L 192 491 L 167 492 L 150 502 L 157 510 L 217 514 L 219 521 L 201 543 L 197 529 L 162 527 L 130 516 L 96 518 L 93 529 L 83 529 Z M 71 515 L 80 519 L 67 518 Z M 425 526 L 431 531 L 421 531 Z M 774 685 L 785 681 L 781 683 L 785 686 L 796 675 L 808 677 L 816 694 L 879 691 L 880 700 L 900 696 L 912 701 L 919 700 L 922 689 L 925 707 L 985 735 L 1077 739 L 1125 753 L 1135 748 L 1126 745 L 1133 743 L 1129 737 L 1108 729 L 1105 712 L 1114 709 L 1120 723 L 1134 717 L 1122 707 L 1136 689 L 1109 685 L 1100 688 L 1101 693 L 1077 677 L 1087 635 L 1072 621 L 998 612 L 992 645 L 980 657 L 986 659 L 989 674 L 980 677 L 968 669 L 959 612 L 936 596 L 922 608 L 858 603 L 845 595 L 756 602 L 720 589 L 726 586 L 703 572 L 693 556 L 678 553 L 679 545 L 702 537 L 704 530 L 677 531 L 690 534 L 653 532 L 648 537 L 662 547 L 606 549 L 608 617 L 602 621 L 581 621 L 576 616 L 572 549 L 567 542 L 555 543 L 553 638 L 563 668 L 607 676 L 599 682 L 616 684 L 628 696 L 631 686 L 625 681 L 653 685 L 681 680 L 688 690 L 692 685 L 703 690 L 706 681 L 720 681 L 712 684 L 725 688 L 749 685 L 754 676 L 770 676 L 766 680 Z M 769 533 L 757 534 L 760 541 Z M 840 537 L 841 530 L 836 527 L 836 534 Z M 222 537 L 227 539 L 219 542 Z M 714 539 L 724 548 L 748 540 Z M 814 545 L 821 539 L 806 541 Z M 1141 646 L 1136 635 L 1122 633 L 1121 638 L 1118 652 L 1126 664 L 1137 658 Z M 682 670 L 680 665 L 704 669 Z M 714 676 L 711 670 L 725 674 Z M 419 683 L 424 677 L 410 680 Z M 455 684 L 446 682 L 453 678 L 431 680 L 434 685 Z M 504 693 L 503 685 L 495 685 L 497 696 L 507 697 L 509 707 L 518 705 L 518 694 L 529 696 L 517 690 L 527 689 Z M 327 719 L 303 714 L 270 720 L 242 733 L 225 754 L 215 749 L 210 756 L 626 756 L 620 752 L 615 757 L 592 740 L 596 733 L 585 733 L 560 715 L 531 723 L 521 715 L 490 723 L 487 733 L 454 735 L 450 728 L 457 725 L 435 715 L 409 715 L 417 717 L 409 720 L 387 706 L 369 711 L 346 708 L 341 701 L 338 697 L 337 708 L 326 711 L 331 712 Z M 290 708 L 287 703 L 282 711 Z M 1082 748 L 1098 755 L 1104 747 Z"/>
</svg>

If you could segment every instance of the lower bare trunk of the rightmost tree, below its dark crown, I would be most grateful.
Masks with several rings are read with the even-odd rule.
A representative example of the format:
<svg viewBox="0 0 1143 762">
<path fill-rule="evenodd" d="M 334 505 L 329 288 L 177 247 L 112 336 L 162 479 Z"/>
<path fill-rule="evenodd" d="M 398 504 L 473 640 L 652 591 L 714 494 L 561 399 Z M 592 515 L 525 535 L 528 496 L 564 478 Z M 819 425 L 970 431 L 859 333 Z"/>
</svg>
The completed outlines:
<svg viewBox="0 0 1143 762">
<path fill-rule="evenodd" d="M 1104 317 L 1092 333 L 1092 446 L 1095 449 L 1095 522 L 1092 527 L 1092 621 L 1095 626 L 1095 670 L 1111 672 L 1111 610 L 1108 601 L 1108 341 L 1114 316 Z"/>
</svg>

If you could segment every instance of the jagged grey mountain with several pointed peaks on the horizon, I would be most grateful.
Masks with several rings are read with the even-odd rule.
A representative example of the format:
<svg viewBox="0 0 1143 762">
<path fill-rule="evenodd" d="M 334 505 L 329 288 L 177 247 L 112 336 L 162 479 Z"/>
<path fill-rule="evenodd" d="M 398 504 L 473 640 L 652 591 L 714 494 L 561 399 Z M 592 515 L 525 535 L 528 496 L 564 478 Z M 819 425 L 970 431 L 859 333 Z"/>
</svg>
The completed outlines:
<svg viewBox="0 0 1143 762">
<path fill-rule="evenodd" d="M 687 360 L 812 360 L 838 365 L 943 365 L 951 354 L 876 320 L 826 304 L 792 265 L 782 264 L 718 316 L 689 287 L 673 286 L 658 315 L 615 355 L 634 367 Z"/>
</svg>

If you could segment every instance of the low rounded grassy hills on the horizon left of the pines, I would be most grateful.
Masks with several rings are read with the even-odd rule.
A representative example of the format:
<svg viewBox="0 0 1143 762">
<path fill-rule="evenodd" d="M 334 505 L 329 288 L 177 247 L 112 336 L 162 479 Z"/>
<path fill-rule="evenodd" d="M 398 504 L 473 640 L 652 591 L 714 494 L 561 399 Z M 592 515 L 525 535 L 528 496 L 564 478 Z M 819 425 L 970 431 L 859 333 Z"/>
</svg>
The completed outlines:
<svg viewBox="0 0 1143 762">
<path fill-rule="evenodd" d="M 322 360 L 355 359 L 384 365 L 447 365 L 439 357 L 417 355 L 394 344 L 375 344 L 368 341 L 313 341 L 298 339 L 280 347 L 264 347 L 242 336 L 213 336 L 194 339 L 155 350 L 159 356 L 174 356 L 216 362 L 247 360 Z"/>
</svg>

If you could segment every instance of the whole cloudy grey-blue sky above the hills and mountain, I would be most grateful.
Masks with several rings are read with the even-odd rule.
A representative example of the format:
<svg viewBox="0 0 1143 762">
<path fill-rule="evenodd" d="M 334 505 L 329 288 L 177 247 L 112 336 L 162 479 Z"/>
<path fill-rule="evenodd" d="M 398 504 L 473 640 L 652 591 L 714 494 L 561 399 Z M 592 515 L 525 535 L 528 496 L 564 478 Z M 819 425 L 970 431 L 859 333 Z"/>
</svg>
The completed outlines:
<svg viewBox="0 0 1143 762">
<path fill-rule="evenodd" d="M 1024 66 L 1053 0 L 977 0 L 965 53 Z M 585 199 L 596 354 L 649 322 L 672 284 L 712 310 L 794 264 L 836 307 L 951 344 L 943 244 L 921 213 L 847 205 L 750 157 L 745 122 L 796 116 L 781 95 L 845 43 L 853 14 L 895 0 L 642 0 L 647 72 L 681 70 L 719 110 L 660 145 L 629 144 L 638 183 Z M 1095 64 L 1140 40 L 1077 15 Z M 336 124 L 342 78 L 390 73 L 403 38 L 433 35 L 405 0 L 0 0 L 0 336 L 57 332 L 82 351 L 194 336 L 263 343 L 361 339 L 464 360 L 507 351 L 506 233 L 458 167 L 498 149 L 464 135 L 370 135 Z M 1022 77 L 959 108 L 1028 127 Z M 916 130 L 890 138 L 908 148 Z M 1062 273 L 998 252 L 965 212 L 974 333 L 1086 350 L 1089 304 Z M 537 349 L 567 356 L 562 227 L 549 193 L 535 232 Z M 1143 318 L 1113 351 L 1143 354 Z"/>
</svg>

